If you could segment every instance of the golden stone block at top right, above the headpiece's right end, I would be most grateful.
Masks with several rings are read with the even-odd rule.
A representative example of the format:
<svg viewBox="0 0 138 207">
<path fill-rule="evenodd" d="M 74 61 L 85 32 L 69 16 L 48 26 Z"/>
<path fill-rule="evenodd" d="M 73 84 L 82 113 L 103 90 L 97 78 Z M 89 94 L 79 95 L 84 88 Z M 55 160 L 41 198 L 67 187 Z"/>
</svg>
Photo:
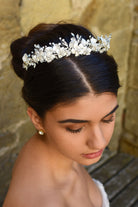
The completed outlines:
<svg viewBox="0 0 138 207">
<path fill-rule="evenodd" d="M 86 10 L 89 18 L 84 20 L 92 27 L 98 27 L 103 33 L 113 33 L 124 28 L 131 27 L 133 18 L 133 7 L 131 0 L 102 1 L 96 0 Z M 121 41 L 121 40 L 120 40 Z"/>
</svg>

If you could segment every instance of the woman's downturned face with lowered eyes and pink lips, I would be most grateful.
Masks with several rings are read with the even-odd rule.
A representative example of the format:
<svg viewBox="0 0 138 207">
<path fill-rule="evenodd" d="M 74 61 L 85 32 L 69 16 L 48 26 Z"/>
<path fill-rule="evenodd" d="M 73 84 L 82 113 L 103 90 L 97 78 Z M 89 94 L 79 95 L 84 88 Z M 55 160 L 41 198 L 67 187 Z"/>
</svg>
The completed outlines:
<svg viewBox="0 0 138 207">
<path fill-rule="evenodd" d="M 83 165 L 97 162 L 111 139 L 117 107 L 114 94 L 89 93 L 48 111 L 43 126 L 49 149 Z"/>
</svg>

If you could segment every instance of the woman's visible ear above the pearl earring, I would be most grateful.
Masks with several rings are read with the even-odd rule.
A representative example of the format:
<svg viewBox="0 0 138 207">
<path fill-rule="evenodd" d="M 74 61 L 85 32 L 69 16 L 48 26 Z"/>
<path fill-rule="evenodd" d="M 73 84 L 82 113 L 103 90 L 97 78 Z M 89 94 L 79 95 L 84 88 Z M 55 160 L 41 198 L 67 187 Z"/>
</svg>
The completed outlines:
<svg viewBox="0 0 138 207">
<path fill-rule="evenodd" d="M 30 117 L 35 128 L 37 130 L 43 130 L 45 132 L 45 130 L 43 128 L 43 124 L 42 124 L 42 119 L 40 118 L 40 116 L 37 114 L 37 112 L 32 107 L 28 107 L 27 114 Z"/>
</svg>

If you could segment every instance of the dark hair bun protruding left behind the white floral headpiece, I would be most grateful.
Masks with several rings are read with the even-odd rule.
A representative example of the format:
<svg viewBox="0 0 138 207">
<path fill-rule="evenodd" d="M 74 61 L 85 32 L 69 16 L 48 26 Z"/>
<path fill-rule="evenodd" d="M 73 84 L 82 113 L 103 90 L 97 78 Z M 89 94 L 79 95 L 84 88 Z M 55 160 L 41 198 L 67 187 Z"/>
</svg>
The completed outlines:
<svg viewBox="0 0 138 207">
<path fill-rule="evenodd" d="M 11 43 L 10 50 L 12 54 L 12 66 L 17 74 L 21 79 L 24 79 L 24 74 L 26 70 L 22 67 L 22 54 L 23 49 L 26 46 L 27 37 L 19 38 Z"/>
</svg>

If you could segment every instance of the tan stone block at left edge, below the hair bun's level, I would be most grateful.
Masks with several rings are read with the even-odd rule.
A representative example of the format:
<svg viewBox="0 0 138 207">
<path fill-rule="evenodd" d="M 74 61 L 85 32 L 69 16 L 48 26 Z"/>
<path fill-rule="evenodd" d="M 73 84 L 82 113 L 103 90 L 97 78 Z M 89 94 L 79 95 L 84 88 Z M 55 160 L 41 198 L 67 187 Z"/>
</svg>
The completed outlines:
<svg viewBox="0 0 138 207">
<path fill-rule="evenodd" d="M 21 98 L 21 82 L 13 71 L 1 71 L 0 81 L 0 126 L 1 129 L 27 117 L 25 103 Z M 14 126 L 13 126 L 14 127 Z"/>
</svg>

